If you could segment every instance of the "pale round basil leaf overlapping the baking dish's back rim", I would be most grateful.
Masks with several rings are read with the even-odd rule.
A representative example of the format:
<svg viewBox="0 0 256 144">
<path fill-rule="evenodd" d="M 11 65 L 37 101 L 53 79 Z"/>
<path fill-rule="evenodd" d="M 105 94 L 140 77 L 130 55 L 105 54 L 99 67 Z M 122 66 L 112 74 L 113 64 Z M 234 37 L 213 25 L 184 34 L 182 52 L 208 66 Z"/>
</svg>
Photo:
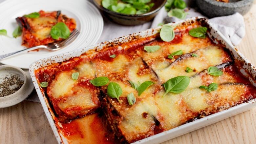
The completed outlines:
<svg viewBox="0 0 256 144">
<path fill-rule="evenodd" d="M 172 26 L 163 25 L 160 30 L 160 37 L 165 42 L 170 42 L 174 39 L 175 33 Z"/>
</svg>

